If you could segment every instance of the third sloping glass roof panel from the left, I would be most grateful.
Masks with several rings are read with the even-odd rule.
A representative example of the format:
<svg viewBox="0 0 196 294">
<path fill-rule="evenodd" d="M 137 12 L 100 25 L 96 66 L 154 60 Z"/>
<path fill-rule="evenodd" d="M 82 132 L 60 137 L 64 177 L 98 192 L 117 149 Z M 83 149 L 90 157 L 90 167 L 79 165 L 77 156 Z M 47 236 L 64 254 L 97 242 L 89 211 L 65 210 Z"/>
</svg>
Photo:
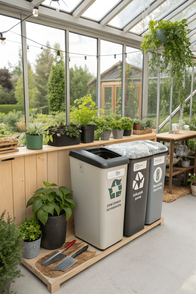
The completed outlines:
<svg viewBox="0 0 196 294">
<path fill-rule="evenodd" d="M 154 0 L 149 0 L 149 5 L 153 1 Z M 108 24 L 122 29 L 138 14 L 142 13 L 143 9 L 144 9 L 143 0 L 133 0 L 127 7 L 125 7 L 119 14 L 117 14 L 117 16 L 115 16 Z"/>
</svg>

